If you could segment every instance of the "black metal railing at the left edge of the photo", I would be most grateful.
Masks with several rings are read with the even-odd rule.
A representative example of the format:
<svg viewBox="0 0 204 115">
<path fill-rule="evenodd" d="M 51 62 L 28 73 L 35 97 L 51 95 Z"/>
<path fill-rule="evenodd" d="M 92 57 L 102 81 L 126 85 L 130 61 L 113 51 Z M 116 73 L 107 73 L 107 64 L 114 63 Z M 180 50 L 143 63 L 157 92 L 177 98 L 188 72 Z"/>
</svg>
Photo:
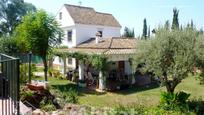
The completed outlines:
<svg viewBox="0 0 204 115">
<path fill-rule="evenodd" d="M 0 54 L 0 115 L 19 115 L 19 59 Z"/>
</svg>

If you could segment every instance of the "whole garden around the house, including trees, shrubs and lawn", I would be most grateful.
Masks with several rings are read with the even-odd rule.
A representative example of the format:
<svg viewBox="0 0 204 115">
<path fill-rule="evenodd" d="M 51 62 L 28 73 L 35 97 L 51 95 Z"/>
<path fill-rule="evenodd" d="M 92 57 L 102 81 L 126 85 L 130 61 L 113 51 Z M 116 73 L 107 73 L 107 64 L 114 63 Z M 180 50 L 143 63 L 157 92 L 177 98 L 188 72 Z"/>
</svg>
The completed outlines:
<svg viewBox="0 0 204 115">
<path fill-rule="evenodd" d="M 143 35 L 137 38 L 135 55 L 131 59 L 136 71 L 151 73 L 156 82 L 141 87 L 130 85 L 126 90 L 96 92 L 79 87 L 73 82 L 77 80 L 67 80 L 53 67 L 56 49 L 62 47 L 63 38 L 63 31 L 53 16 L 20 0 L 0 3 L 7 9 L 10 8 L 8 4 L 13 5 L 12 10 L 0 12 L 7 16 L 0 20 L 0 52 L 15 57 L 32 53 L 42 59 L 43 67 L 30 65 L 23 59 L 20 63 L 20 99 L 33 110 L 42 114 L 204 114 L 203 30 L 198 30 L 192 21 L 179 25 L 176 8 L 171 27 L 166 21 L 152 31 L 152 36 L 147 36 L 145 19 Z M 123 37 L 133 39 L 134 31 L 128 31 L 126 28 Z M 106 68 L 106 58 L 98 55 L 91 58 L 82 54 L 69 56 L 91 59 L 96 69 Z M 142 66 L 138 68 L 138 65 Z M 43 72 L 43 77 L 35 72 Z M 43 85 L 38 86 L 38 83 Z"/>
</svg>

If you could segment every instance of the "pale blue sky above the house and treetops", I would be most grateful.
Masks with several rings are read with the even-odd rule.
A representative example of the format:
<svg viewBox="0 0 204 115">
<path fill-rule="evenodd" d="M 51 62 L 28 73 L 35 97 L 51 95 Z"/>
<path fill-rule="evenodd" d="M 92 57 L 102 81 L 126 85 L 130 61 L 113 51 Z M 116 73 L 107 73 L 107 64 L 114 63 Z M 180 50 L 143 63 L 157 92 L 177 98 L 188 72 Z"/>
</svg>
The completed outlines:
<svg viewBox="0 0 204 115">
<path fill-rule="evenodd" d="M 204 27 L 204 0 L 24 0 L 39 9 L 56 15 L 63 4 L 92 7 L 98 12 L 111 13 L 123 27 L 134 28 L 136 36 L 142 34 L 146 18 L 151 30 L 172 22 L 173 8 L 179 10 L 179 23 L 193 20 L 198 29 Z"/>
</svg>

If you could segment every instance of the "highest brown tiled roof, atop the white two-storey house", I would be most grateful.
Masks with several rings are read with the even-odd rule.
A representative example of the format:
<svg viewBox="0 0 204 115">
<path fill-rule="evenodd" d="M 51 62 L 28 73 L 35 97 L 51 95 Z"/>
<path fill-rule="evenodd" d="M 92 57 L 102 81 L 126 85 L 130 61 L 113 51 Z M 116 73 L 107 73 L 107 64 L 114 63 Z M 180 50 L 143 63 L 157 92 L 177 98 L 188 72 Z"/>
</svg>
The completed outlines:
<svg viewBox="0 0 204 115">
<path fill-rule="evenodd" d="M 96 12 L 93 8 L 64 4 L 74 22 L 86 25 L 121 27 L 112 14 Z"/>
</svg>

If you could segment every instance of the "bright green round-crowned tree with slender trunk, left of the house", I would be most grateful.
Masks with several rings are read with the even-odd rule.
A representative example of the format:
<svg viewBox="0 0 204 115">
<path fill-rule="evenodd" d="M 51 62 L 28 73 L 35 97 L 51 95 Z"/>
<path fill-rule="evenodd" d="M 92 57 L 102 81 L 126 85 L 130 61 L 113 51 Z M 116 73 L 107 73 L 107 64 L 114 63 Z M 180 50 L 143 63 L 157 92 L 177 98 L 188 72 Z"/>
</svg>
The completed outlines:
<svg viewBox="0 0 204 115">
<path fill-rule="evenodd" d="M 55 18 L 45 11 L 37 11 L 26 15 L 16 29 L 16 37 L 20 46 L 25 45 L 25 51 L 42 58 L 44 64 L 45 80 L 47 81 L 47 55 L 53 47 L 61 43 L 61 29 Z"/>
</svg>

